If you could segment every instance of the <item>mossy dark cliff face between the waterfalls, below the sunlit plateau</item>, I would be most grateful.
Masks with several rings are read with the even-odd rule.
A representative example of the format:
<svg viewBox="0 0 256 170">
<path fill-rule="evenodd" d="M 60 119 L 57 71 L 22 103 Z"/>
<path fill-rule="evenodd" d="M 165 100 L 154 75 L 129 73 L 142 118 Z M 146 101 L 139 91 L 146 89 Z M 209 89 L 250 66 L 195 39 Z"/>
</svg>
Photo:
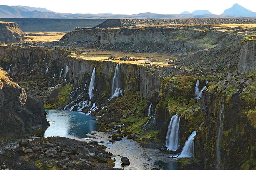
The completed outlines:
<svg viewBox="0 0 256 170">
<path fill-rule="evenodd" d="M 125 94 L 110 100 L 113 75 L 118 63 L 115 60 L 84 59 L 70 56 L 61 49 L 7 46 L 0 47 L 0 60 L 1 67 L 7 70 L 11 68 L 9 74 L 20 80 L 29 77 L 32 81 L 38 79 L 41 82 L 50 81 L 51 83 L 48 84 L 35 85 L 44 89 L 39 93 L 46 93 L 45 89 L 48 89 L 46 86 L 53 87 L 59 83 L 73 86 L 72 92 L 67 93 L 72 98 L 67 109 L 76 106 L 73 107 L 76 110 L 77 104 L 86 100 L 96 102 L 98 108 L 106 106 L 105 109 L 92 111 L 92 114 L 100 116 L 98 123 L 101 131 L 112 129 L 112 125 L 125 124 L 122 133 L 132 134 L 133 139 L 142 143 L 162 144 L 165 142 L 171 117 L 178 114 L 180 116 L 179 150 L 190 134 L 196 130 L 195 156 L 204 161 L 205 169 L 254 168 L 255 74 L 202 76 L 189 74 L 183 69 L 173 67 L 122 62 L 120 84 Z M 48 67 L 48 73 L 45 74 Z M 96 70 L 94 89 L 97 90 L 94 90 L 94 96 L 90 99 L 88 89 L 94 67 Z M 197 79 L 199 79 L 199 89 L 206 84 L 205 79 L 209 80 L 200 102 L 194 99 Z M 238 83 L 240 79 L 244 82 Z M 150 103 L 152 103 L 151 119 L 145 114 Z M 225 109 L 222 119 L 223 130 L 219 138 L 220 147 L 217 149 L 219 119 L 223 104 Z M 87 109 L 83 108 L 82 111 L 87 112 Z M 217 150 L 221 158 L 220 162 L 217 161 Z"/>
</svg>

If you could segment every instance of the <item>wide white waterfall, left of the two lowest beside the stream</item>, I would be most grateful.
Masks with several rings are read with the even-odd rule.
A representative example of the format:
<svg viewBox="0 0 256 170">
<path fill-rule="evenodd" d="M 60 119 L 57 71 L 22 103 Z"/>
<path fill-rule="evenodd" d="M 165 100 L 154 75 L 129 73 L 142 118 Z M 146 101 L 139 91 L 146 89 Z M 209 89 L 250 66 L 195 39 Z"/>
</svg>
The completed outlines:
<svg viewBox="0 0 256 170">
<path fill-rule="evenodd" d="M 171 117 L 171 121 L 168 127 L 165 146 L 171 151 L 176 151 L 179 147 L 179 126 L 180 126 L 180 117 L 178 114 L 175 114 Z"/>
</svg>

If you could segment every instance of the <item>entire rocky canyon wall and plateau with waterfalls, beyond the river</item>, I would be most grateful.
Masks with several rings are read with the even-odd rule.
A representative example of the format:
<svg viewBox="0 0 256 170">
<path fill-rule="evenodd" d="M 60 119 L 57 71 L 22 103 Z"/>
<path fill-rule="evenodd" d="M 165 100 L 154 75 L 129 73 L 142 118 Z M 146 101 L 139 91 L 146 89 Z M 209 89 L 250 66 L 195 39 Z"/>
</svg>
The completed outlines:
<svg viewBox="0 0 256 170">
<path fill-rule="evenodd" d="M 176 154 L 181 169 L 254 169 L 255 33 L 253 24 L 75 28 L 58 42 L 1 44 L 0 66 L 45 109 L 90 113 L 98 131 Z"/>
</svg>

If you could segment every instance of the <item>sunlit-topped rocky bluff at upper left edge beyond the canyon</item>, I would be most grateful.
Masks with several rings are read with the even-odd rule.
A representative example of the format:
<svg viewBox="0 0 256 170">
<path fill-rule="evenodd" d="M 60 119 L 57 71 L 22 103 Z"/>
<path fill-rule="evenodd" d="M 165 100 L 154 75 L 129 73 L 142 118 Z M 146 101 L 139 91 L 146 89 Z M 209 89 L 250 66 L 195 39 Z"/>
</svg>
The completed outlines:
<svg viewBox="0 0 256 170">
<path fill-rule="evenodd" d="M 0 43 L 20 42 L 25 35 L 17 23 L 0 21 Z"/>
</svg>

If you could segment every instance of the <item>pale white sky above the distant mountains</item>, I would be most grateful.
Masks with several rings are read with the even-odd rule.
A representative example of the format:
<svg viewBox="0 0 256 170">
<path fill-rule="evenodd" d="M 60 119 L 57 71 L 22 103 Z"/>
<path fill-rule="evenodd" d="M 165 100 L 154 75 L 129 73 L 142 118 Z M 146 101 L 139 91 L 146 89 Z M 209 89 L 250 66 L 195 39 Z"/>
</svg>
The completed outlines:
<svg viewBox="0 0 256 170">
<path fill-rule="evenodd" d="M 62 13 L 180 14 L 183 11 L 209 10 L 219 15 L 234 3 L 256 12 L 256 0 L 2 0 L 0 5 L 41 7 Z"/>
</svg>

